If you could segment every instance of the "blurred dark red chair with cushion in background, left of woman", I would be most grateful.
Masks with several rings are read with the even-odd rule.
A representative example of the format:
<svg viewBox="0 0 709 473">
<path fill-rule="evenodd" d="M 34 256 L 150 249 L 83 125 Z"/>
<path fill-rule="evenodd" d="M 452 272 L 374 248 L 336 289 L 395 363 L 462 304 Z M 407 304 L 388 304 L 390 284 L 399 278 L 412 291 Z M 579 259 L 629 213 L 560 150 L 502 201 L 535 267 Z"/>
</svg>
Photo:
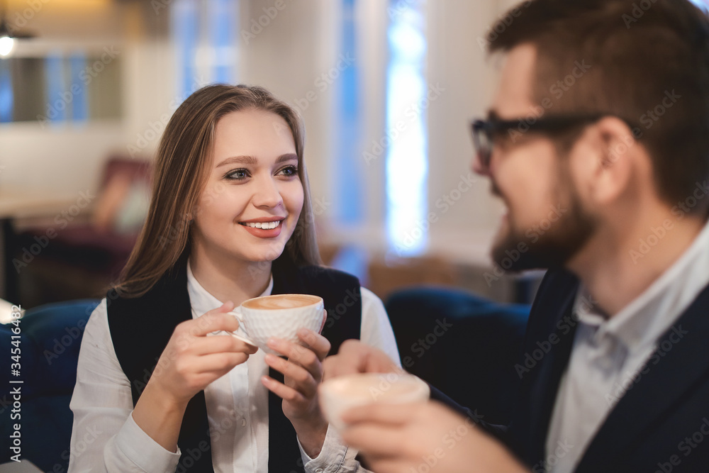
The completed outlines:
<svg viewBox="0 0 709 473">
<path fill-rule="evenodd" d="M 104 295 L 138 238 L 150 198 L 150 179 L 150 162 L 111 157 L 95 199 L 78 215 L 67 213 L 43 224 L 26 223 L 17 235 L 19 254 L 36 243 L 36 238 L 55 236 L 19 270 L 24 307 Z"/>
</svg>

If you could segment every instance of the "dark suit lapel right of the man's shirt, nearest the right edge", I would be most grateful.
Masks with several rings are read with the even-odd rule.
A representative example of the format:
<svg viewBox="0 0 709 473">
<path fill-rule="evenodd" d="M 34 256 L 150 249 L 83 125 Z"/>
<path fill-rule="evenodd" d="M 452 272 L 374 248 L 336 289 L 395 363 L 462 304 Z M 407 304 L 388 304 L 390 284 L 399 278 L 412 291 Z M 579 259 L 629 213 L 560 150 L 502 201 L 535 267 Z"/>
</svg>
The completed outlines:
<svg viewBox="0 0 709 473">
<path fill-rule="evenodd" d="M 608 461 L 642 440 L 709 371 L 709 286 L 659 339 L 658 348 L 618 401 L 579 463 Z M 654 393 L 654 394 L 653 394 Z M 659 393 L 659 394 L 658 394 Z M 590 471 L 590 470 L 589 470 Z"/>
</svg>

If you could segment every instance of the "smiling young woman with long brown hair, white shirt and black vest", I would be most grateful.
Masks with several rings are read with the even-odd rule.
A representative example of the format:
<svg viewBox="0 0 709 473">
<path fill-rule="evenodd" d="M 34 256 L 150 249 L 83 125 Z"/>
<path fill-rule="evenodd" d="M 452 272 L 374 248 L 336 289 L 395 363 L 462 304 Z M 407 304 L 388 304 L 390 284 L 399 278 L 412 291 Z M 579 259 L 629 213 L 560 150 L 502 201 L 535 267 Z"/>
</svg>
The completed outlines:
<svg viewBox="0 0 709 473">
<path fill-rule="evenodd" d="M 72 397 L 69 471 L 362 469 L 318 408 L 347 338 L 398 360 L 381 301 L 320 267 L 303 131 L 259 87 L 214 85 L 167 124 L 150 211 L 121 282 L 91 314 Z M 224 334 L 256 296 L 316 294 L 328 318 L 283 357 Z"/>
</svg>

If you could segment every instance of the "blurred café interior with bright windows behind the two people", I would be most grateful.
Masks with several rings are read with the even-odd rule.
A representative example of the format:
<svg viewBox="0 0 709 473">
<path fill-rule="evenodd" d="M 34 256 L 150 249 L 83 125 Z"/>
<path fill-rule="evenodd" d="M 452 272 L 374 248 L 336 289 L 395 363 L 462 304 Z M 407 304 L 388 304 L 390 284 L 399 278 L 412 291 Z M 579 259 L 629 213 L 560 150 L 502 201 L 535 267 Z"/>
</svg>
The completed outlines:
<svg viewBox="0 0 709 473">
<path fill-rule="evenodd" d="M 101 296 L 169 117 L 229 82 L 301 112 L 328 265 L 381 297 L 443 284 L 527 301 L 535 275 L 491 266 L 501 204 L 469 169 L 469 120 L 494 91 L 487 28 L 514 3 L 0 0 L 0 297 Z"/>
</svg>

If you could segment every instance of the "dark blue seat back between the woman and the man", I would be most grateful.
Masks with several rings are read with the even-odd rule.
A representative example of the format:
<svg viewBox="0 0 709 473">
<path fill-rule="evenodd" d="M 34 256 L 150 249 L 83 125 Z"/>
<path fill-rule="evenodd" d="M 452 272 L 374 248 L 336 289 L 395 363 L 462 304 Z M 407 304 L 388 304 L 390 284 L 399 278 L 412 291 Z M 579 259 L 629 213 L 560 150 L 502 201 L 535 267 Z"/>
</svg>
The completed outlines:
<svg viewBox="0 0 709 473">
<path fill-rule="evenodd" d="M 486 422 L 509 422 L 530 306 L 443 287 L 400 289 L 385 306 L 408 372 Z"/>
</svg>

